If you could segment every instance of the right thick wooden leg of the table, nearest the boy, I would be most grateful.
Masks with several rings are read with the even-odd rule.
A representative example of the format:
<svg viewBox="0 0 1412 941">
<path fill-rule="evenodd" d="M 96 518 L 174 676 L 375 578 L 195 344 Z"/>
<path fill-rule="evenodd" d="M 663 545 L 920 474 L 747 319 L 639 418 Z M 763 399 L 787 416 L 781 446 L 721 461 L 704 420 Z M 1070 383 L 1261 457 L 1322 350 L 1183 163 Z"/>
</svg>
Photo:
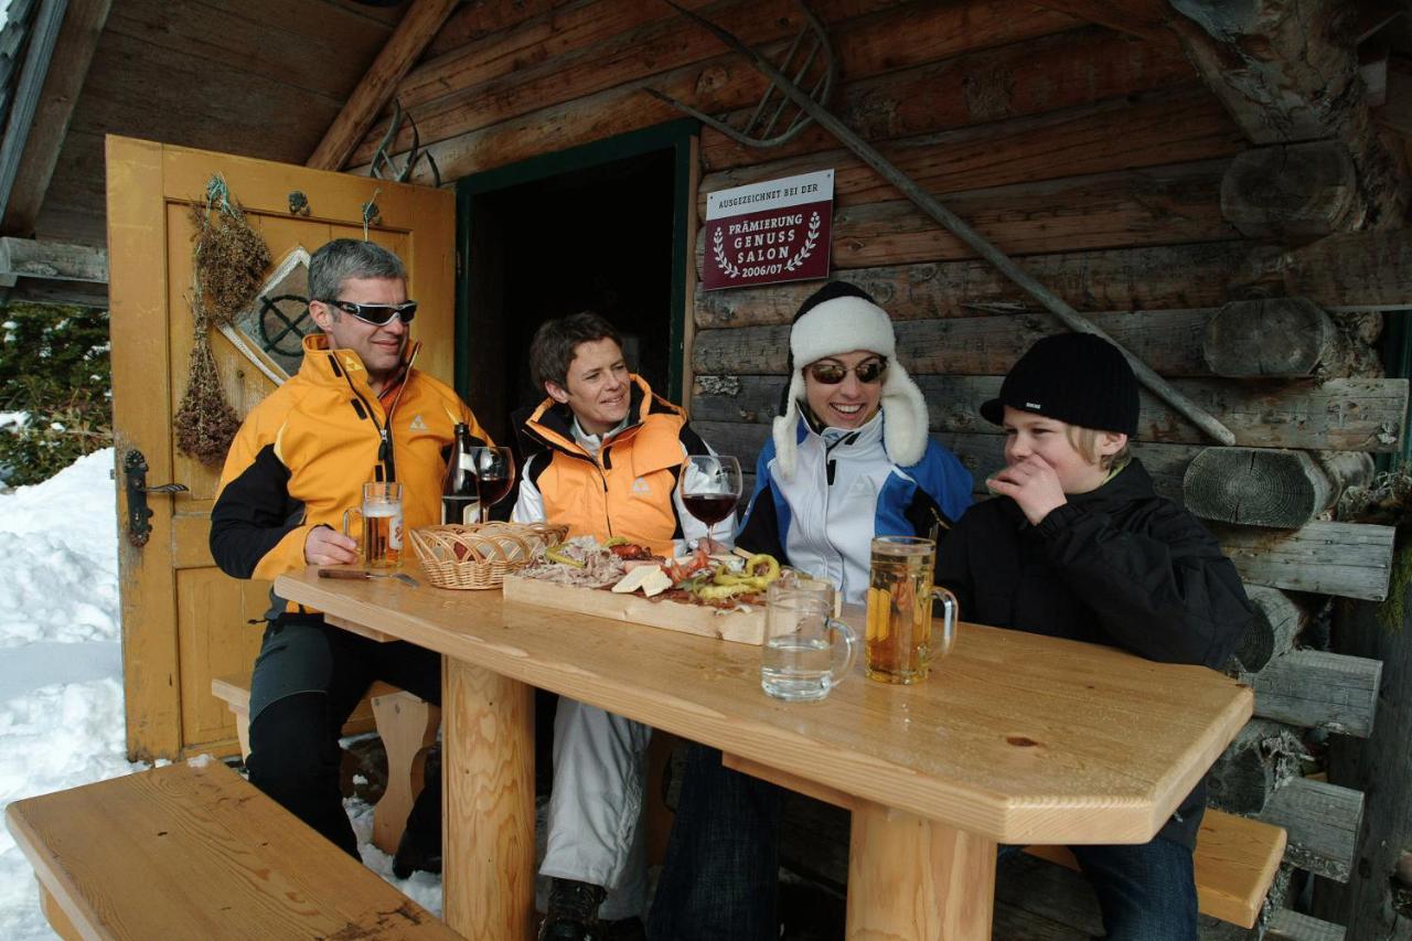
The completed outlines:
<svg viewBox="0 0 1412 941">
<path fill-rule="evenodd" d="M 853 808 L 849 941 L 990 941 L 995 842 L 877 804 Z"/>
</svg>

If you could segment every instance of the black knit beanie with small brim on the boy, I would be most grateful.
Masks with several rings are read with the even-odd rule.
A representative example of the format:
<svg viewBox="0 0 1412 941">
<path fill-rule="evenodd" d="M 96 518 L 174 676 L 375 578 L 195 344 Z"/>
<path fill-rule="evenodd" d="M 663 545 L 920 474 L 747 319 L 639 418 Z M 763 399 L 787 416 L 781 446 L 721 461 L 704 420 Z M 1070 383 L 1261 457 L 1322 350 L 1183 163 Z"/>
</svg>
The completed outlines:
<svg viewBox="0 0 1412 941">
<path fill-rule="evenodd" d="M 1004 424 L 1005 406 L 1094 431 L 1138 431 L 1137 376 L 1117 346 L 1091 333 L 1036 341 L 980 414 Z"/>
</svg>

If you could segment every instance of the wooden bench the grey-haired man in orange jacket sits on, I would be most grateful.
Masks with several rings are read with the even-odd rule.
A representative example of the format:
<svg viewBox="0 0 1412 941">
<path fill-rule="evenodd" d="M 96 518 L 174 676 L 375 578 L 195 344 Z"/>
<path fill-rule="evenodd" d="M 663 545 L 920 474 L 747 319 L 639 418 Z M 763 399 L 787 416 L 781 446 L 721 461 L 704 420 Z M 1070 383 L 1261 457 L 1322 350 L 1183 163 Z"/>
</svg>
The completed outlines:
<svg viewBox="0 0 1412 941">
<path fill-rule="evenodd" d="M 250 675 L 216 677 L 210 692 L 236 716 L 240 757 L 250 757 Z M 366 730 L 371 718 L 387 752 L 387 790 L 373 808 L 373 845 L 391 856 L 407 828 L 407 814 L 422 791 L 426 750 L 436 742 L 441 709 L 385 682 L 369 687 L 343 730 Z"/>
</svg>

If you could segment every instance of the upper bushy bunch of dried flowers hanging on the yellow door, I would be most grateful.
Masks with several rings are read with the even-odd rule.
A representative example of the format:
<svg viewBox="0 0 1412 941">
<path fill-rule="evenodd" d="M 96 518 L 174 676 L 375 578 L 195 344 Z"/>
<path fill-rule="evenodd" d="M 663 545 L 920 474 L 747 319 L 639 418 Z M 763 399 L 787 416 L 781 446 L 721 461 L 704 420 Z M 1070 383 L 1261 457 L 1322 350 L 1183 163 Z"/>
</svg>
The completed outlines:
<svg viewBox="0 0 1412 941">
<path fill-rule="evenodd" d="M 192 206 L 191 218 L 196 230 L 196 300 L 210 318 L 229 324 L 260 291 L 271 263 L 270 249 L 246 222 L 220 174 L 210 178 L 206 205 Z"/>
</svg>

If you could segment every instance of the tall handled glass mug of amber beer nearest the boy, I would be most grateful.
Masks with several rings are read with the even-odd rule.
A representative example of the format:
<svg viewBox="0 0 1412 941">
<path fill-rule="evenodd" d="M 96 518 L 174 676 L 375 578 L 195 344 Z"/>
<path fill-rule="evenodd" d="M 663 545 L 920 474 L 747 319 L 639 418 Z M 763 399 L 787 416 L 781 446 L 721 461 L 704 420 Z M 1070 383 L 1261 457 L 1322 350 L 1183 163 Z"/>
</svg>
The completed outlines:
<svg viewBox="0 0 1412 941">
<path fill-rule="evenodd" d="M 936 543 L 912 535 L 873 540 L 864 673 L 868 680 L 912 684 L 925 680 L 935 657 L 956 637 L 956 595 L 932 585 Z M 942 616 L 932 617 L 932 600 Z"/>
</svg>

